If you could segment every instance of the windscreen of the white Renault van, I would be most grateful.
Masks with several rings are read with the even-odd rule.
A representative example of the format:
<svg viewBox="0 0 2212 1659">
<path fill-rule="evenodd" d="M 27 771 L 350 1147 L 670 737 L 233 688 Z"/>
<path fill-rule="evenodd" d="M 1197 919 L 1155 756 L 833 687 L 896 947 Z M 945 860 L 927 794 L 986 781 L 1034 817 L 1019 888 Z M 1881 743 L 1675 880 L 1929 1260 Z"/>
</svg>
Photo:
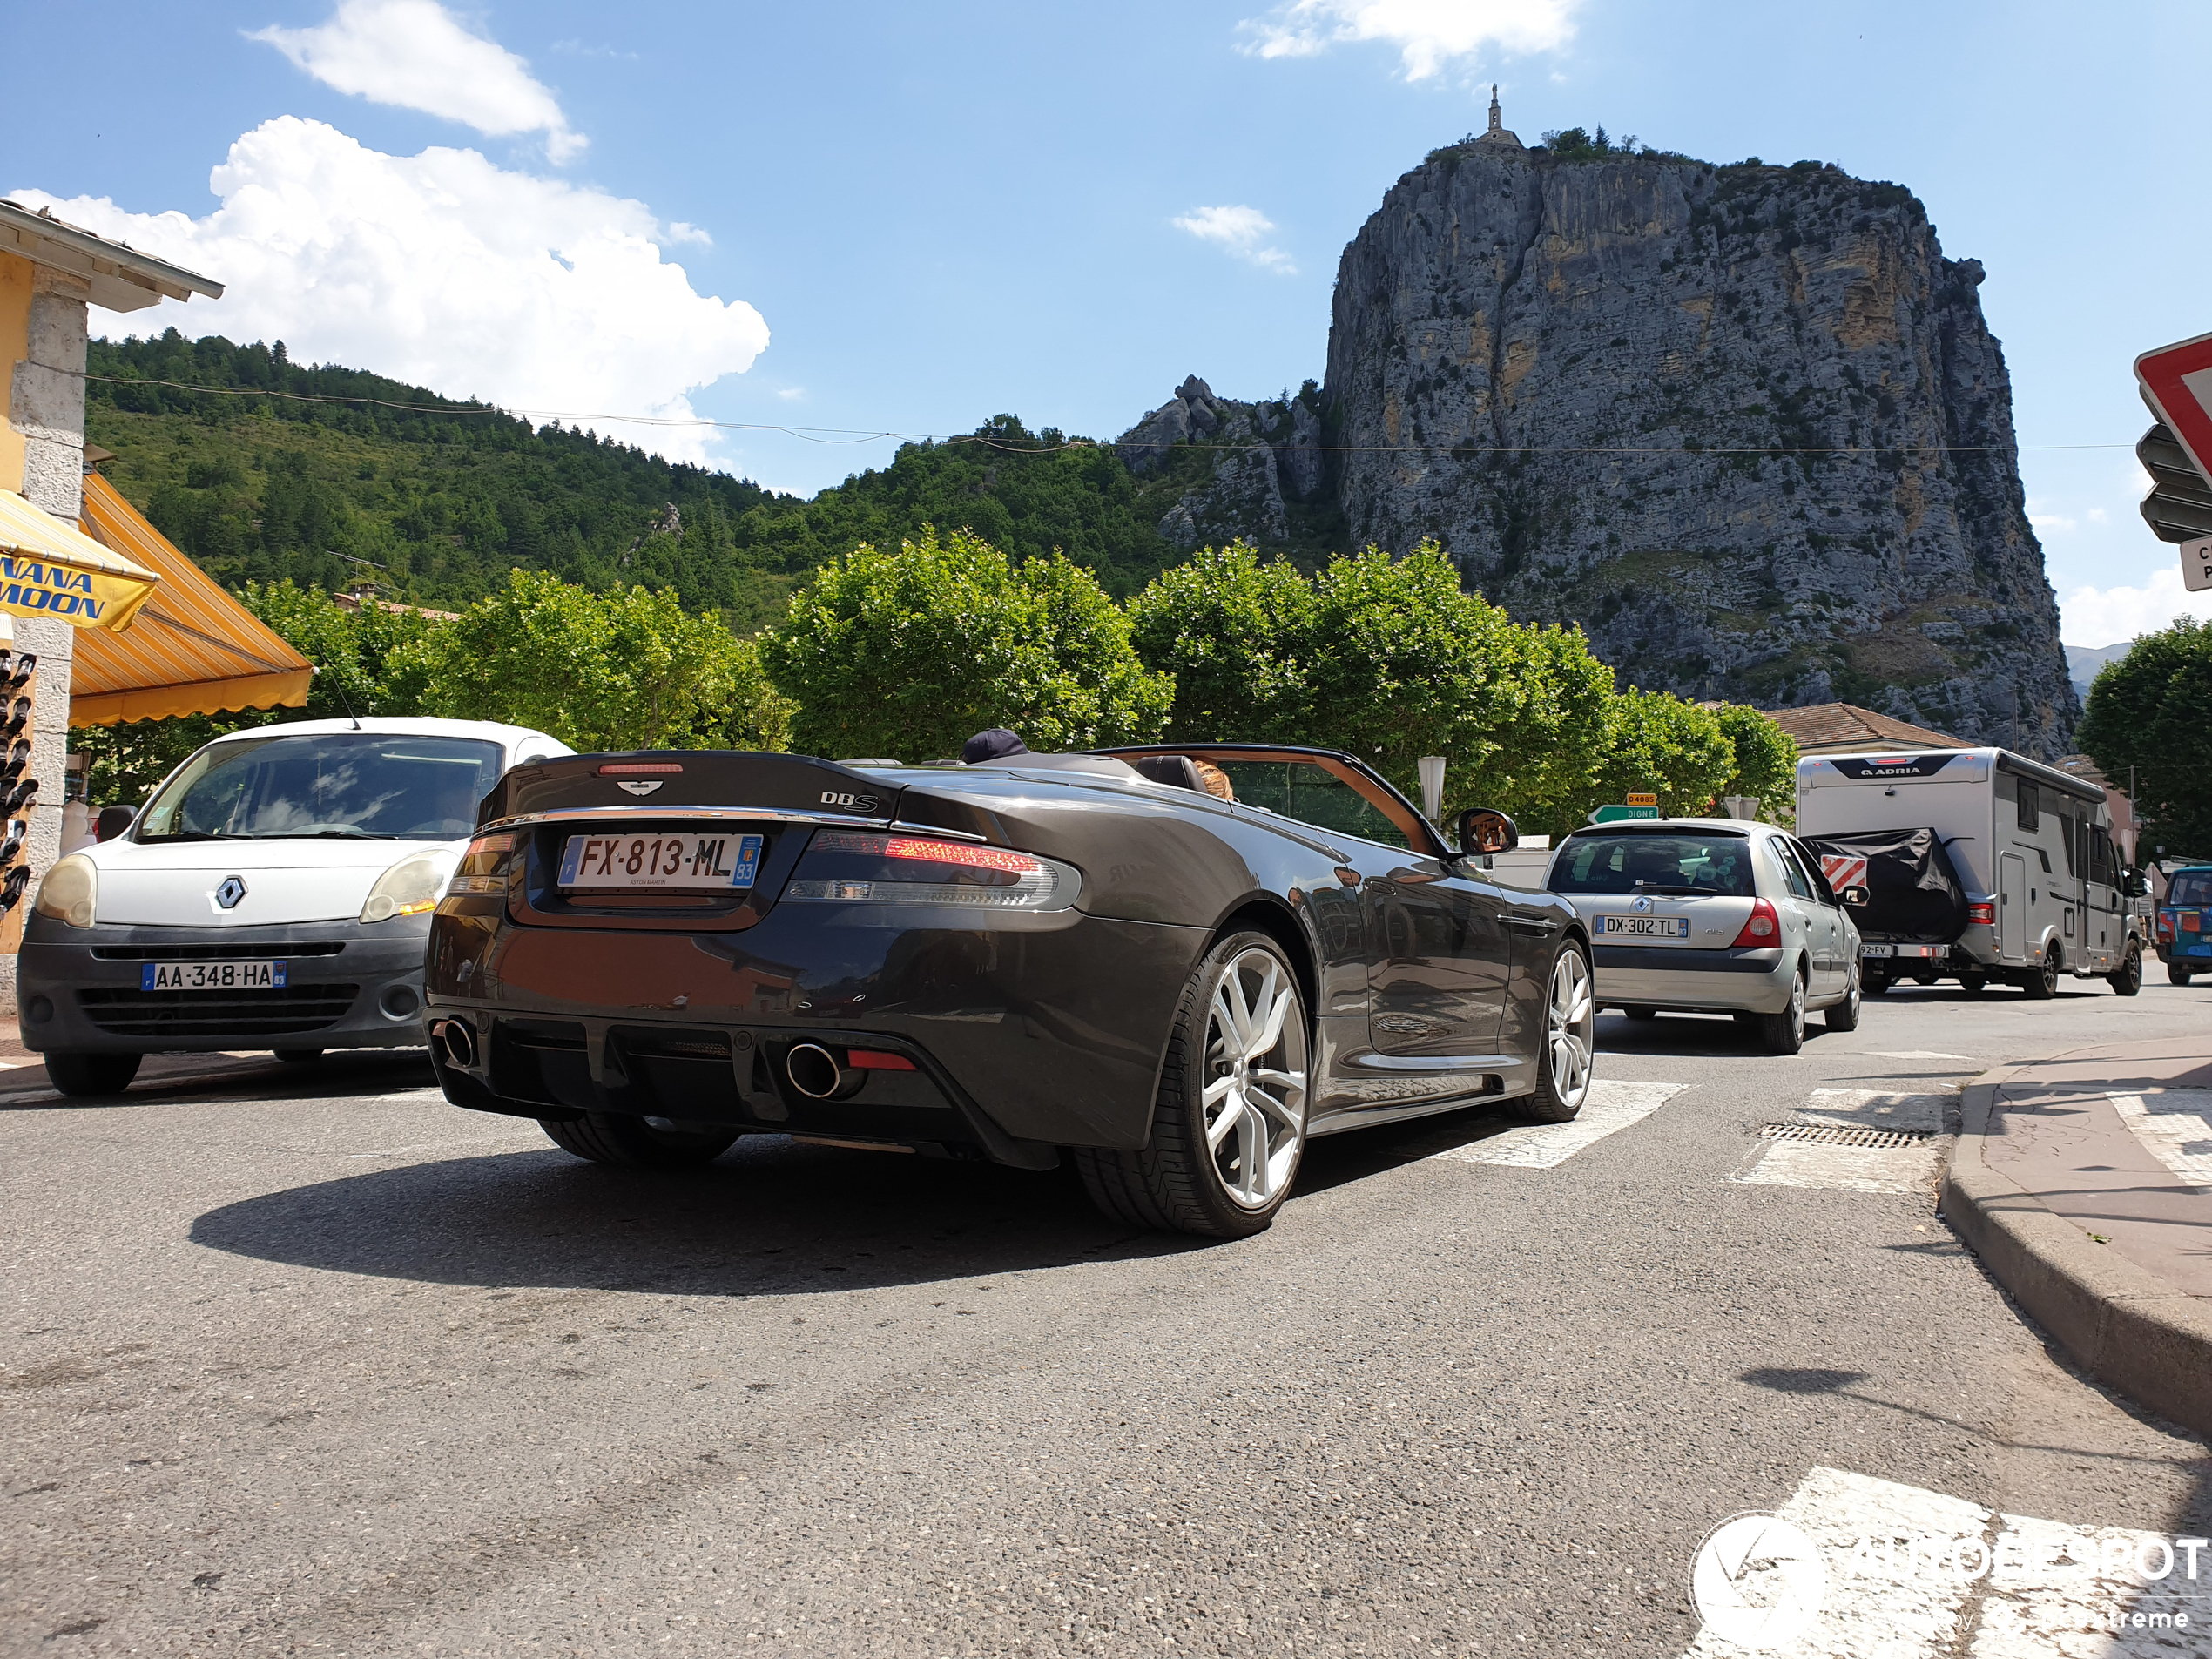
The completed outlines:
<svg viewBox="0 0 2212 1659">
<path fill-rule="evenodd" d="M 210 743 L 153 799 L 139 841 L 458 841 L 500 779 L 473 737 L 299 732 Z"/>
</svg>

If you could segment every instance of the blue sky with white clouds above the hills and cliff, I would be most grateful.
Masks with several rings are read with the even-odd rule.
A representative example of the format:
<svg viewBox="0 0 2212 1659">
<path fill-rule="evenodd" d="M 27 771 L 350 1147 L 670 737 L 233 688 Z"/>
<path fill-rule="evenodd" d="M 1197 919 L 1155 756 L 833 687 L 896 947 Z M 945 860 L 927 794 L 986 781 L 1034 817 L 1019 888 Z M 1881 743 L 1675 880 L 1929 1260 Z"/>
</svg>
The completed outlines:
<svg viewBox="0 0 2212 1659">
<path fill-rule="evenodd" d="M 0 18 L 55 71 L 0 190 L 232 285 L 95 330 L 586 416 L 1113 436 L 1186 374 L 1318 378 L 1338 252 L 1498 80 L 1531 142 L 1911 186 L 1989 268 L 2066 637 L 2108 644 L 2185 604 L 2130 363 L 2212 330 L 2208 46 L 2185 4 L 44 0 Z M 894 451 L 615 431 L 799 491 Z"/>
</svg>

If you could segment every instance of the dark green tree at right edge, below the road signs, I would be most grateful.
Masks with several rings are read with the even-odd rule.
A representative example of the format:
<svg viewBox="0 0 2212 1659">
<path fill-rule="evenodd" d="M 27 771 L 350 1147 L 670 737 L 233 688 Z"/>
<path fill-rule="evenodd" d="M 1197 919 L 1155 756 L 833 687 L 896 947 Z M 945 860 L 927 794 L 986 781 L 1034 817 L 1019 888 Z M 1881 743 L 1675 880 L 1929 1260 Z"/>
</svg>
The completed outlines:
<svg viewBox="0 0 2212 1659">
<path fill-rule="evenodd" d="M 2143 856 L 2212 856 L 2212 624 L 2174 617 L 2106 664 L 2088 688 L 2075 741 L 2097 770 L 2126 783 L 2148 821 Z"/>
</svg>

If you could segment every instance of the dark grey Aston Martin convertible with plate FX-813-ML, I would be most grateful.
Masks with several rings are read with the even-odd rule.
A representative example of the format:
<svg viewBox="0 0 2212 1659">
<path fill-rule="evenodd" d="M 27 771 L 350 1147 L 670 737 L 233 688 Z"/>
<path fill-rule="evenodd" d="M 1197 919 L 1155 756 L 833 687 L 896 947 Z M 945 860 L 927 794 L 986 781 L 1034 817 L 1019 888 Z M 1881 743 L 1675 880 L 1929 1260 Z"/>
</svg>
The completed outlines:
<svg viewBox="0 0 2212 1659">
<path fill-rule="evenodd" d="M 520 765 L 427 1002 L 447 1099 L 586 1159 L 748 1130 L 1068 1157 L 1108 1214 L 1214 1237 L 1272 1221 L 1312 1135 L 1573 1117 L 1595 1029 L 1568 900 L 1495 885 L 1360 761 L 1274 745 Z"/>
</svg>

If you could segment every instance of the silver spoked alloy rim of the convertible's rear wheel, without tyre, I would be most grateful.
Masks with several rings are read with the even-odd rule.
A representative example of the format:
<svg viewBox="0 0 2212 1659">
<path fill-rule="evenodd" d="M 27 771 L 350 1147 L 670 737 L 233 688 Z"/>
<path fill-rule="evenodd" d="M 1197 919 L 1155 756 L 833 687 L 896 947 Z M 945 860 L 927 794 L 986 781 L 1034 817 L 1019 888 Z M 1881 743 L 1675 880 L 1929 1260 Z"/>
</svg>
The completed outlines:
<svg viewBox="0 0 2212 1659">
<path fill-rule="evenodd" d="M 1305 1144 L 1305 1011 L 1272 951 L 1239 951 L 1214 980 L 1201 1106 L 1221 1190 L 1245 1210 L 1272 1203 Z"/>
</svg>

